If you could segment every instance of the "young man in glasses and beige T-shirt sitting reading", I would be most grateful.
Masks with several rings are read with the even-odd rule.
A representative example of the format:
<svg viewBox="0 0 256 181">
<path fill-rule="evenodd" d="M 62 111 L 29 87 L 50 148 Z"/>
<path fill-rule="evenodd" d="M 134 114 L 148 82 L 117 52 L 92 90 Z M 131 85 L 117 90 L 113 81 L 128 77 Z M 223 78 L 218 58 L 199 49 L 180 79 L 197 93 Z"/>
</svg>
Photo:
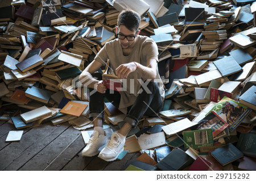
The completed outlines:
<svg viewBox="0 0 256 181">
<path fill-rule="evenodd" d="M 164 87 L 158 73 L 158 48 L 155 42 L 139 35 L 140 16 L 126 10 L 118 16 L 117 39 L 105 44 L 80 75 L 80 81 L 89 87 L 89 118 L 94 124 L 94 133 L 82 155 L 114 161 L 123 151 L 125 138 L 143 115 L 156 116 L 162 108 Z M 102 75 L 94 73 L 109 59 L 110 68 L 118 78 L 126 80 L 126 90 L 121 92 L 106 89 Z M 95 89 L 97 91 L 95 91 Z M 108 137 L 102 128 L 104 119 L 104 96 L 126 114 L 125 124 L 118 132 Z M 102 149 L 103 148 L 103 149 Z"/>
</svg>

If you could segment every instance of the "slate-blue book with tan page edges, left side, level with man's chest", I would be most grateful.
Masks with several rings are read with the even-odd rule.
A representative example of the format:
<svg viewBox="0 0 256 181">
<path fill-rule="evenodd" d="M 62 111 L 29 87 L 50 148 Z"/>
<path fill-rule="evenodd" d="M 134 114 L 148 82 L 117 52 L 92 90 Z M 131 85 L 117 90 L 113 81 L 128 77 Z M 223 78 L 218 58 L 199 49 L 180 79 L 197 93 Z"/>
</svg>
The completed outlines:
<svg viewBox="0 0 256 181">
<path fill-rule="evenodd" d="M 35 54 L 34 56 L 27 58 L 22 62 L 19 62 L 19 64 L 16 64 L 16 67 L 20 71 L 25 72 L 43 63 L 44 63 L 43 58 L 41 58 L 38 54 Z"/>
</svg>

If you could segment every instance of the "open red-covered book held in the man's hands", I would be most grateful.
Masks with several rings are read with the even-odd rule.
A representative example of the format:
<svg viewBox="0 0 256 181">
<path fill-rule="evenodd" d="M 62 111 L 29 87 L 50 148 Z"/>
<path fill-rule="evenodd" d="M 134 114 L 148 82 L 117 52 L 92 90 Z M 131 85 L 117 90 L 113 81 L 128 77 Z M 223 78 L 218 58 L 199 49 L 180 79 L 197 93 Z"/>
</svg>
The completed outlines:
<svg viewBox="0 0 256 181">
<path fill-rule="evenodd" d="M 102 74 L 103 85 L 106 89 L 115 90 L 120 92 L 122 88 L 122 80 L 117 77 L 117 75 L 108 74 L 109 60 L 106 63 L 106 69 Z"/>
</svg>

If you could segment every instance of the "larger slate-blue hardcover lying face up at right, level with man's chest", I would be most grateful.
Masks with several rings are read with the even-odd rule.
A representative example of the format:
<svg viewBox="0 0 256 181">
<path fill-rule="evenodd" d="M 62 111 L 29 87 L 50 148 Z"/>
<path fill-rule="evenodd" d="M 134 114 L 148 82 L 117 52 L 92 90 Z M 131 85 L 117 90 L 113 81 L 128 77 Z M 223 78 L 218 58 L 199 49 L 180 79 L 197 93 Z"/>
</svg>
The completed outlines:
<svg viewBox="0 0 256 181">
<path fill-rule="evenodd" d="M 213 62 L 222 77 L 242 71 L 241 66 L 237 63 L 232 56 L 221 58 Z"/>
</svg>

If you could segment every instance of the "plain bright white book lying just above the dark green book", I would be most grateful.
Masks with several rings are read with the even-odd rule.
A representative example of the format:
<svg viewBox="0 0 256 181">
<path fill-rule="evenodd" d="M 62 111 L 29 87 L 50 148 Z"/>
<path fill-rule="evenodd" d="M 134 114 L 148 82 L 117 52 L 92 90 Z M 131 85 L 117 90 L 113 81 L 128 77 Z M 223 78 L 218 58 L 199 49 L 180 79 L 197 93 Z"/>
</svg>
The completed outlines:
<svg viewBox="0 0 256 181">
<path fill-rule="evenodd" d="M 172 135 L 175 133 L 179 133 L 179 132 L 183 131 L 184 129 L 190 128 L 196 124 L 197 123 L 193 123 L 189 119 L 185 118 L 180 121 L 176 121 L 175 123 L 168 124 L 168 125 L 162 127 L 162 129 L 163 129 L 164 133 L 166 133 L 167 135 Z"/>
</svg>

